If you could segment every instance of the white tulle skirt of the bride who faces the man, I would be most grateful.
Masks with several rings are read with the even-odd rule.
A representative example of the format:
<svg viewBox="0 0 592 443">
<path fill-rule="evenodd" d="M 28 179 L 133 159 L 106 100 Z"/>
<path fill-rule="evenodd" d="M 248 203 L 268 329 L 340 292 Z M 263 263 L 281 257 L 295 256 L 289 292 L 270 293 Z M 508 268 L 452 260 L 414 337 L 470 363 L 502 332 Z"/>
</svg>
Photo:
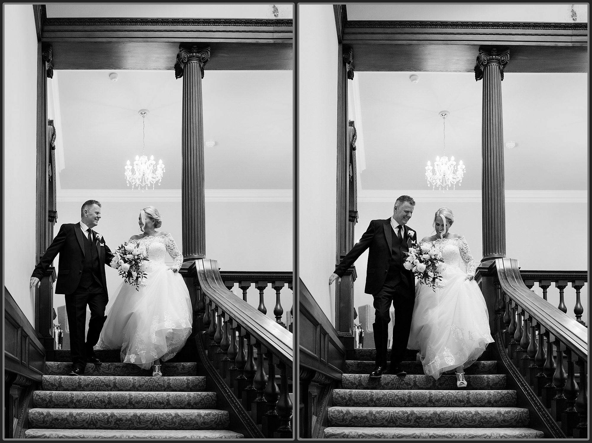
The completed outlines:
<svg viewBox="0 0 592 443">
<path fill-rule="evenodd" d="M 192 311 L 183 277 L 149 261 L 145 287 L 122 282 L 95 349 L 121 348 L 121 361 L 149 369 L 169 360 L 191 334 Z"/>
</svg>

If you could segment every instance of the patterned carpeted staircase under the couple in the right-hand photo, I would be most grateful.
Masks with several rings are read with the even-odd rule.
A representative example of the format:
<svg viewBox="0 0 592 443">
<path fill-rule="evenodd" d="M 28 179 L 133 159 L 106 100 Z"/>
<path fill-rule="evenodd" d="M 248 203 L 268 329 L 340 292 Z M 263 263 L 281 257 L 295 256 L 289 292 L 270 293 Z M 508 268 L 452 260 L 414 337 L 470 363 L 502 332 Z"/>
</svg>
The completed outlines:
<svg viewBox="0 0 592 443">
<path fill-rule="evenodd" d="M 496 361 L 466 368 L 468 387 L 459 389 L 454 374 L 438 380 L 424 375 L 416 351 L 401 363 L 407 376 L 369 379 L 375 355 L 374 349 L 356 349 L 355 360 L 346 362 L 325 438 L 543 438 L 528 427 L 529 411 L 516 407 L 516 391 L 506 389 Z"/>
</svg>

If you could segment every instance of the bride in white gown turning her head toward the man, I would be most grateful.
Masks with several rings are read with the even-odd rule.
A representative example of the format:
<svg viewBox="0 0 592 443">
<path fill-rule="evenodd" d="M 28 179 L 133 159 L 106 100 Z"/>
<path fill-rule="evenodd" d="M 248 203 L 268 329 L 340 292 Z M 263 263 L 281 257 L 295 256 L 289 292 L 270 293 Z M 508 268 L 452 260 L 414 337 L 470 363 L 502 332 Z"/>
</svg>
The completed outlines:
<svg viewBox="0 0 592 443">
<path fill-rule="evenodd" d="M 191 300 L 178 273 L 183 256 L 175 240 L 168 232 L 156 231 L 162 225 L 158 210 L 147 206 L 138 222 L 142 235 L 133 235 L 128 243 L 140 243 L 148 251 L 143 264 L 147 279 L 139 290 L 120 284 L 95 348 L 121 348 L 122 362 L 152 366 L 152 376 L 160 377 L 160 362 L 174 357 L 191 333 Z M 172 267 L 165 264 L 166 253 L 175 262 Z"/>
</svg>

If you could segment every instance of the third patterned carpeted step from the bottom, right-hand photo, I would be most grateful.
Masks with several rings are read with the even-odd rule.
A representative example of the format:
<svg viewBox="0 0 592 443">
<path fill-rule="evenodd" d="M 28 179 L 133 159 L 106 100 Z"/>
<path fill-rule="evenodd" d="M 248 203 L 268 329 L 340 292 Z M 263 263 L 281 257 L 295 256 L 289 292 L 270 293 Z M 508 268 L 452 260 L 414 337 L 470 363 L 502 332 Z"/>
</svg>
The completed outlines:
<svg viewBox="0 0 592 443">
<path fill-rule="evenodd" d="M 516 406 L 516 391 L 334 389 L 333 406 L 501 408 Z"/>
</svg>

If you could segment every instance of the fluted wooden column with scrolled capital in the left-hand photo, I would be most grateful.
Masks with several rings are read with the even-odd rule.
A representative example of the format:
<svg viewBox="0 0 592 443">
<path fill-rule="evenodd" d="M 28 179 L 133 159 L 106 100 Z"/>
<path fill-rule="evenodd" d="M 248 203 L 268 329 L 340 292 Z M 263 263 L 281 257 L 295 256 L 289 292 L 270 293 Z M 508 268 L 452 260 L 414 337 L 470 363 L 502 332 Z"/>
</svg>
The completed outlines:
<svg viewBox="0 0 592 443">
<path fill-rule="evenodd" d="M 183 261 L 205 258 L 204 119 L 201 79 L 210 47 L 180 44 L 175 77 L 183 77 L 181 214 Z"/>
</svg>

